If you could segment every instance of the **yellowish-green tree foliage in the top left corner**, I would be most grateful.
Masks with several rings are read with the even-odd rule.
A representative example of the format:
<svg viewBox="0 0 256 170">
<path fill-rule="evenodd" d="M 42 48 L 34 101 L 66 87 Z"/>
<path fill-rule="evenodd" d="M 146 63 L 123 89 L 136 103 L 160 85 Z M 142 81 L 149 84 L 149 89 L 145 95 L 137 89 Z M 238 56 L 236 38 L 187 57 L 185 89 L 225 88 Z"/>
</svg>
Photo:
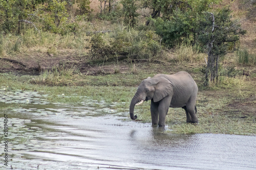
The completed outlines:
<svg viewBox="0 0 256 170">
<path fill-rule="evenodd" d="M 72 1 L 50 0 L 47 5 L 44 2 L 44 0 L 0 0 L 0 31 L 21 33 L 25 25 L 58 34 L 76 30 L 77 23 L 67 22 L 66 8 L 73 4 Z"/>
</svg>

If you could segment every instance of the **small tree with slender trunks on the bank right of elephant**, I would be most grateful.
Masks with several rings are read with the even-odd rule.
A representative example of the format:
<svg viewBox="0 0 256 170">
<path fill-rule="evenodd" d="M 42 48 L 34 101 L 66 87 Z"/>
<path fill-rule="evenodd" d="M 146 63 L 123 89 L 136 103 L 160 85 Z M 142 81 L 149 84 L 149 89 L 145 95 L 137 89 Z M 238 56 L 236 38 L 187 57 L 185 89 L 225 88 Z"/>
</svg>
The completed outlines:
<svg viewBox="0 0 256 170">
<path fill-rule="evenodd" d="M 198 20 L 197 39 L 208 55 L 204 86 L 218 82 L 219 58 L 234 50 L 239 35 L 246 33 L 238 21 L 231 20 L 229 8 L 216 13 L 204 12 Z"/>
</svg>

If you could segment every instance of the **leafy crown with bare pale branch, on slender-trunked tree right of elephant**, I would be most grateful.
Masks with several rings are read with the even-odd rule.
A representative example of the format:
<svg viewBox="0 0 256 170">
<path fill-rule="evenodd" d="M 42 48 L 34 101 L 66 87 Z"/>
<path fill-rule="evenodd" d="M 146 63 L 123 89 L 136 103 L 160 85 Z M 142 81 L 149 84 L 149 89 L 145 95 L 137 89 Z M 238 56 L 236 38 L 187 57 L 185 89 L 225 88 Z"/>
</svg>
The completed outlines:
<svg viewBox="0 0 256 170">
<path fill-rule="evenodd" d="M 236 20 L 231 19 L 230 13 L 229 8 L 223 8 L 214 14 L 204 12 L 197 22 L 198 42 L 204 48 L 209 48 L 209 43 L 213 42 L 214 55 L 225 55 L 228 50 L 233 50 L 239 40 L 239 35 L 246 33 Z"/>
</svg>

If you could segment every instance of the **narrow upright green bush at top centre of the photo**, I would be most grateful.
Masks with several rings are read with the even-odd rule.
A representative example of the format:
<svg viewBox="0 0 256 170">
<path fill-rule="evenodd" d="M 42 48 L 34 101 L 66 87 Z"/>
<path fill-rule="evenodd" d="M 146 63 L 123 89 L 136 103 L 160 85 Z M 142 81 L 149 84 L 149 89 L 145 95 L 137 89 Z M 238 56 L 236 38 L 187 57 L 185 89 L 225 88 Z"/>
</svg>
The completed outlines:
<svg viewBox="0 0 256 170">
<path fill-rule="evenodd" d="M 135 5 L 136 0 L 122 0 L 121 4 L 123 5 L 123 15 L 124 22 L 129 25 L 131 28 L 134 27 L 137 23 L 137 16 L 139 14 L 136 12 L 138 7 Z"/>
</svg>

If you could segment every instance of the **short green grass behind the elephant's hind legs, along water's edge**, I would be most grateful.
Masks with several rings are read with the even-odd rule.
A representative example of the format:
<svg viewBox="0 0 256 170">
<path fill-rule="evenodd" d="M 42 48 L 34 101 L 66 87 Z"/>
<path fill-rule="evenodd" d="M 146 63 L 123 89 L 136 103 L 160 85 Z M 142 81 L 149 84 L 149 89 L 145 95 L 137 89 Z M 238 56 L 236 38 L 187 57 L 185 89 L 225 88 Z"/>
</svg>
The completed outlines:
<svg viewBox="0 0 256 170">
<path fill-rule="evenodd" d="M 183 109 L 169 109 L 167 123 L 172 129 L 172 133 L 219 133 L 219 134 L 239 134 L 255 135 L 255 114 L 244 113 L 240 109 L 228 107 L 234 99 L 239 99 L 240 94 L 232 94 L 230 90 L 219 90 L 218 92 L 205 94 L 199 92 L 197 100 L 198 125 L 186 124 L 186 115 Z M 217 93 L 217 94 L 214 94 Z M 208 97 L 207 95 L 212 95 Z M 218 96 L 219 95 L 219 96 Z M 246 115 L 246 118 L 243 118 Z"/>
</svg>

